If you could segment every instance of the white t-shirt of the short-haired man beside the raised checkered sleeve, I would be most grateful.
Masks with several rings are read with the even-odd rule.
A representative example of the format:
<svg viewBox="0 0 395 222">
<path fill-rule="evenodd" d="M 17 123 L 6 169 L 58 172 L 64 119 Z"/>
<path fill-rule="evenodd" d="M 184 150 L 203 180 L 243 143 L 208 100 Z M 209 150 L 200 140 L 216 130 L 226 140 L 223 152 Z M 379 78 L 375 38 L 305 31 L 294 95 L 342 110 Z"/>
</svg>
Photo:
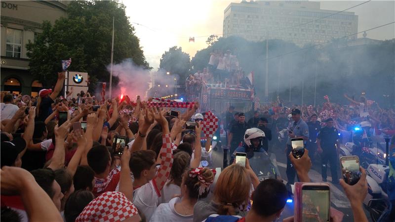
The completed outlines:
<svg viewBox="0 0 395 222">
<path fill-rule="evenodd" d="M 142 185 L 133 191 L 133 204 L 145 215 L 147 221 L 151 219 L 158 207 L 160 192 L 154 185 L 154 181 Z"/>
</svg>

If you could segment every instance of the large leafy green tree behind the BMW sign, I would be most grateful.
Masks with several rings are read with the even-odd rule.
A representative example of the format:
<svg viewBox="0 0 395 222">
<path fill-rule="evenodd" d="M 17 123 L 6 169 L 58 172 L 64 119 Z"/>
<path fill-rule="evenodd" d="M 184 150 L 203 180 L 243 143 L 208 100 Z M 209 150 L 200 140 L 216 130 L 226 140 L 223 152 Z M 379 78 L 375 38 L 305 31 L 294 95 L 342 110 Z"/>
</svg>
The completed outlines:
<svg viewBox="0 0 395 222">
<path fill-rule="evenodd" d="M 113 16 L 115 18 L 114 63 L 131 58 L 146 69 L 147 63 L 139 39 L 118 1 L 71 1 L 67 18 L 53 25 L 44 21 L 43 32 L 34 43 L 26 45 L 30 71 L 44 86 L 56 81 L 62 59 L 72 58 L 69 70 L 87 72 L 90 90 L 95 80 L 107 82 L 110 64 Z M 113 85 L 117 83 L 114 78 Z"/>
</svg>

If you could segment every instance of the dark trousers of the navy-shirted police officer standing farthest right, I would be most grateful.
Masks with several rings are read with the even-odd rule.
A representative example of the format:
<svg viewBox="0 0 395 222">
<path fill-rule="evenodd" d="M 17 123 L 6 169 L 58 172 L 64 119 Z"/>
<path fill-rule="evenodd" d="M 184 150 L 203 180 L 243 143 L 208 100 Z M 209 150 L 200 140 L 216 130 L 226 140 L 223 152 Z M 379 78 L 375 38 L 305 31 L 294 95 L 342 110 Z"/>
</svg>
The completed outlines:
<svg viewBox="0 0 395 222">
<path fill-rule="evenodd" d="M 322 148 L 323 152 L 321 153 L 321 176 L 323 179 L 326 179 L 326 170 L 327 164 L 330 164 L 330 173 L 332 175 L 332 182 L 338 182 L 337 177 L 337 165 L 339 165 L 339 158 L 336 152 L 336 148 Z"/>
</svg>

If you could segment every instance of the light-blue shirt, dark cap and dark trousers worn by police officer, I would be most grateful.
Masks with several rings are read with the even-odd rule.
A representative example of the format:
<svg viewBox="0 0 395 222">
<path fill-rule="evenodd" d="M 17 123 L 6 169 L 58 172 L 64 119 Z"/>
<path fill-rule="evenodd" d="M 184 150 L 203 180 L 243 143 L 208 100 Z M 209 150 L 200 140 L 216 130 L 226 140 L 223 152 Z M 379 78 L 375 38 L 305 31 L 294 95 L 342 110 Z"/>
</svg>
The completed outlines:
<svg viewBox="0 0 395 222">
<path fill-rule="evenodd" d="M 300 110 L 298 109 L 292 109 L 292 113 L 300 114 Z M 309 127 L 307 126 L 306 122 L 300 119 L 298 122 L 292 121 L 288 125 L 288 130 L 292 131 L 295 134 L 295 137 L 301 137 L 301 136 L 306 136 L 309 138 Z M 306 141 L 304 141 L 306 143 Z M 288 157 L 288 154 L 291 152 L 292 146 L 291 146 L 291 138 L 288 136 L 287 140 L 287 178 L 288 178 L 288 183 L 293 184 L 295 181 L 295 176 L 296 176 L 296 171 L 295 168 L 293 168 L 291 160 Z"/>
</svg>

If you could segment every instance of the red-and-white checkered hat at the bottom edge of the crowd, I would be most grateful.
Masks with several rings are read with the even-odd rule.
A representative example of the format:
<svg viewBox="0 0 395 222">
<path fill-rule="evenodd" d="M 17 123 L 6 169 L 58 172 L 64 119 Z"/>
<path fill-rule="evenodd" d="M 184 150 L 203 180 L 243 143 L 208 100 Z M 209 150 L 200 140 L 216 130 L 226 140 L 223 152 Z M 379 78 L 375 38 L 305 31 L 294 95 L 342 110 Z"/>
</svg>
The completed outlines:
<svg viewBox="0 0 395 222">
<path fill-rule="evenodd" d="M 105 192 L 83 209 L 76 222 L 118 222 L 137 214 L 137 208 L 123 193 Z"/>
</svg>

